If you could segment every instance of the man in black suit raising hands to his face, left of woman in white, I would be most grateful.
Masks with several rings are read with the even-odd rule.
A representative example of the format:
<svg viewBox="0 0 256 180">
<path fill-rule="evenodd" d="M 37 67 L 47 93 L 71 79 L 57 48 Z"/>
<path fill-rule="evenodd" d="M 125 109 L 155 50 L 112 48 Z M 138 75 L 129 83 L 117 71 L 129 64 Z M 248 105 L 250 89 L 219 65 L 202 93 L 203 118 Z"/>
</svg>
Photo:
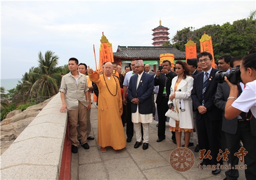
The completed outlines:
<svg viewBox="0 0 256 180">
<path fill-rule="evenodd" d="M 162 63 L 162 71 L 157 70 L 155 76 L 155 86 L 159 86 L 157 94 L 157 114 L 158 114 L 158 139 L 157 142 L 161 142 L 165 139 L 165 113 L 168 111 L 168 100 L 170 95 L 170 86 L 172 85 L 173 78 L 177 75 L 175 72 L 170 71 L 170 61 L 164 60 Z M 172 140 L 176 144 L 175 132 L 172 132 Z"/>
</svg>

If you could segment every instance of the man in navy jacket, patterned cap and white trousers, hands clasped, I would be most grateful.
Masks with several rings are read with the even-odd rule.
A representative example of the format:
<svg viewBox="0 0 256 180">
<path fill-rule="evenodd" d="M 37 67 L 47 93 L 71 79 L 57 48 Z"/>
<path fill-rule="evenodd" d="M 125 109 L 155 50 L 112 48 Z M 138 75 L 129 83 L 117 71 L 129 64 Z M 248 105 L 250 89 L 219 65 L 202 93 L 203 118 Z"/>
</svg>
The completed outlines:
<svg viewBox="0 0 256 180">
<path fill-rule="evenodd" d="M 141 124 L 143 127 L 143 149 L 148 148 L 149 125 L 153 121 L 152 92 L 154 90 L 154 76 L 144 72 L 142 60 L 135 63 L 137 74 L 130 79 L 128 86 L 128 100 L 132 102 L 132 121 L 136 133 L 134 148 L 142 144 Z"/>
</svg>

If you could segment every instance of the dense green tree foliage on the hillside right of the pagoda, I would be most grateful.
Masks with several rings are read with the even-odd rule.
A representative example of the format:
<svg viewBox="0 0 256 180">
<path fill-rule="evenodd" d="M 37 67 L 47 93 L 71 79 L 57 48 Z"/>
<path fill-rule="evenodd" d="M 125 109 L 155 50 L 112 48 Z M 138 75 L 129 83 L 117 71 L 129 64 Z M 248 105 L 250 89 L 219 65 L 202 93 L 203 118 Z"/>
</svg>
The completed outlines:
<svg viewBox="0 0 256 180">
<path fill-rule="evenodd" d="M 248 18 L 226 22 L 222 25 L 213 24 L 195 30 L 193 27 L 177 31 L 173 37 L 173 46 L 185 51 L 185 44 L 191 38 L 197 43 L 197 52 L 200 52 L 201 36 L 211 36 L 215 59 L 221 55 L 245 56 L 256 51 L 256 11 L 252 11 Z"/>
</svg>

